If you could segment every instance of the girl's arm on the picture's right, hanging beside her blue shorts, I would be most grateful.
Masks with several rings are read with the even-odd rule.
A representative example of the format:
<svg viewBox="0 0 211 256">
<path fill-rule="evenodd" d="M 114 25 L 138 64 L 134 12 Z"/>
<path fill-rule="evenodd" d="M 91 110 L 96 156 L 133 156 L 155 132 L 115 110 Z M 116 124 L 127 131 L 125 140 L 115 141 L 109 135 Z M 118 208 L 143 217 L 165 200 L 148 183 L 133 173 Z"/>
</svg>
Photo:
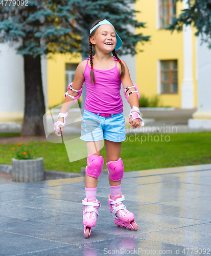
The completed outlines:
<svg viewBox="0 0 211 256">
<path fill-rule="evenodd" d="M 125 61 L 122 60 L 122 62 L 125 66 L 125 74 L 122 78 L 122 84 L 123 84 L 123 88 L 126 89 L 127 87 L 133 86 L 133 83 L 130 78 L 130 73 L 129 73 L 129 70 L 128 70 L 128 67 L 127 67 Z M 132 91 L 136 91 L 135 88 L 130 88 L 126 92 L 126 96 Z M 130 104 L 131 109 L 133 109 L 133 106 L 136 106 L 139 109 L 138 96 L 136 93 L 131 93 L 131 95 L 128 97 L 128 102 Z M 137 112 L 137 111 L 132 111 L 132 112 Z M 140 125 L 142 124 L 142 121 L 140 119 L 134 119 L 132 122 L 131 116 L 130 116 L 129 123 L 131 124 L 131 126 L 133 126 L 133 129 L 135 129 L 137 127 L 140 127 Z"/>
</svg>

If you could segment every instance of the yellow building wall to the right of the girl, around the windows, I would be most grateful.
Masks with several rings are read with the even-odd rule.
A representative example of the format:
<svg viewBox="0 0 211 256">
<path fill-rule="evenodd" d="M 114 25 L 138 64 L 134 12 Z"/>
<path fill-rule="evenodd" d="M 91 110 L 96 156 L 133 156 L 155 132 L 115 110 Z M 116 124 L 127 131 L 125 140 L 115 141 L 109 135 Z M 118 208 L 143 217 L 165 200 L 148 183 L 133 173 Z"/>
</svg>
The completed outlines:
<svg viewBox="0 0 211 256">
<path fill-rule="evenodd" d="M 183 33 L 157 29 L 156 0 L 139 0 L 136 2 L 138 22 L 145 22 L 145 29 L 137 29 L 136 33 L 150 35 L 150 42 L 144 46 L 138 44 L 137 49 L 142 49 L 136 55 L 136 81 L 140 94 L 152 96 L 158 91 L 158 61 L 177 59 L 178 63 L 178 94 L 161 94 L 160 103 L 164 106 L 181 106 L 181 84 L 183 79 Z M 182 3 L 177 2 L 177 14 L 182 9 Z"/>
</svg>

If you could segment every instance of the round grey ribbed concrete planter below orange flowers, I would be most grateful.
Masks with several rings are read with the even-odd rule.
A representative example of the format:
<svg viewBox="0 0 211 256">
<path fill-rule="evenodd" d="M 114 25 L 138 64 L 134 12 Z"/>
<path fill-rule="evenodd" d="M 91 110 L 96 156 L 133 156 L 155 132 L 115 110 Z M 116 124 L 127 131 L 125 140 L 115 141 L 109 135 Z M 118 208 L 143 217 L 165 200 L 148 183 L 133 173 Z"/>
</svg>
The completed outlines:
<svg viewBox="0 0 211 256">
<path fill-rule="evenodd" d="M 12 159 L 12 180 L 20 182 L 44 179 L 43 158 L 18 160 Z"/>
</svg>

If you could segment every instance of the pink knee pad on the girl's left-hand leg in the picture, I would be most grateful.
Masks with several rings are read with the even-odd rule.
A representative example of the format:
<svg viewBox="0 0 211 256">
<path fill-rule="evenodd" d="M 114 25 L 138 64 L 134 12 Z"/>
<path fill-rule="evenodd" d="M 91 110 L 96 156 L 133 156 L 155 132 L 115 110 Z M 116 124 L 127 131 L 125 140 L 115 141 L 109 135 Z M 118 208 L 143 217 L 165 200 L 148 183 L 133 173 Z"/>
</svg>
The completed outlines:
<svg viewBox="0 0 211 256">
<path fill-rule="evenodd" d="M 104 159 L 102 156 L 89 155 L 87 157 L 86 174 L 93 178 L 98 178 L 103 169 Z"/>
</svg>

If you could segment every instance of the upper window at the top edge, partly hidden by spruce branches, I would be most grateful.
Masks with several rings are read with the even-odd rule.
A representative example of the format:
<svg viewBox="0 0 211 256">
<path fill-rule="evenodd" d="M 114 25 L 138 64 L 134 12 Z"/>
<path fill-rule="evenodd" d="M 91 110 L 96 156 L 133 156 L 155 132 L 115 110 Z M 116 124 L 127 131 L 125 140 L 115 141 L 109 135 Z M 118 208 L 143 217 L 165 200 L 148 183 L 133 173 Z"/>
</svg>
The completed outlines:
<svg viewBox="0 0 211 256">
<path fill-rule="evenodd" d="M 168 27 L 176 18 L 177 0 L 159 0 L 160 28 Z"/>
</svg>

